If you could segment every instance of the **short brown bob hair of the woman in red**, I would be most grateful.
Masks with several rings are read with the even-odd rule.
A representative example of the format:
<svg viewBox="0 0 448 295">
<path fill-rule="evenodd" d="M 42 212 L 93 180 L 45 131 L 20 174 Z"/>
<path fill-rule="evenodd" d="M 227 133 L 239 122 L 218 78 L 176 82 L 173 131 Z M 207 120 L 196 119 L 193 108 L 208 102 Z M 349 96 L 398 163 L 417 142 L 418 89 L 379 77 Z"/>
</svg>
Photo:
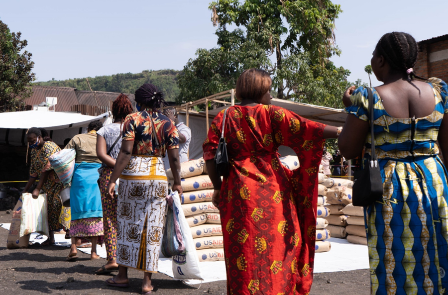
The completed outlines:
<svg viewBox="0 0 448 295">
<path fill-rule="evenodd" d="M 272 85 L 268 72 L 260 69 L 245 70 L 236 81 L 236 98 L 252 99 L 258 102 Z"/>
</svg>

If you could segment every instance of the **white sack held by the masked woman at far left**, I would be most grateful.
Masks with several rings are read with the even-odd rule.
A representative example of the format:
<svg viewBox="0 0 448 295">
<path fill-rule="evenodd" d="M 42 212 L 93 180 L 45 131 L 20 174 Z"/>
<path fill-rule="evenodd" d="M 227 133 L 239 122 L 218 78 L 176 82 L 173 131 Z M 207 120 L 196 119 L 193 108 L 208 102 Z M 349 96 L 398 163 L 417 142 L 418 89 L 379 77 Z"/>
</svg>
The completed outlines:
<svg viewBox="0 0 448 295">
<path fill-rule="evenodd" d="M 22 194 L 22 202 L 19 236 L 38 232 L 48 237 L 47 196 L 40 194 L 34 199 L 26 193 Z"/>
</svg>

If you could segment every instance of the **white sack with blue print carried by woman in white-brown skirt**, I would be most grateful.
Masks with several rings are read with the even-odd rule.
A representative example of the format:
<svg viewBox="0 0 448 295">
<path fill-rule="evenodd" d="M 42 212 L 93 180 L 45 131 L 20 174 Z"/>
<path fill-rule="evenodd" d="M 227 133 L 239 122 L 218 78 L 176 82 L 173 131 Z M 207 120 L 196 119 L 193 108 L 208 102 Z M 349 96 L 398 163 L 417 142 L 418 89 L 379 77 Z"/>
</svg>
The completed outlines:
<svg viewBox="0 0 448 295">
<path fill-rule="evenodd" d="M 177 192 L 171 193 L 174 203 L 178 208 L 181 207 L 181 201 Z M 173 276 L 178 280 L 203 280 L 201 270 L 199 269 L 199 258 L 196 253 L 196 247 L 193 242 L 190 226 L 185 218 L 184 212 L 179 210 L 179 223 L 184 237 L 185 253 L 173 256 Z"/>
</svg>

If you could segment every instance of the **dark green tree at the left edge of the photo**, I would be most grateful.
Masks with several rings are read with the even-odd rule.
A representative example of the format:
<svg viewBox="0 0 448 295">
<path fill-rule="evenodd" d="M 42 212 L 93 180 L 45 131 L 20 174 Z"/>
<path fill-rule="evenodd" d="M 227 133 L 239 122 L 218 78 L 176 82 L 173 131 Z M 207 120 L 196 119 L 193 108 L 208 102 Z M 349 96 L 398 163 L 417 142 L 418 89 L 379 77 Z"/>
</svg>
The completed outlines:
<svg viewBox="0 0 448 295">
<path fill-rule="evenodd" d="M 21 33 L 11 32 L 0 20 L 0 110 L 23 110 L 25 99 L 32 94 L 29 85 L 35 75 L 31 72 L 32 54 L 22 50 L 28 45 L 20 40 Z"/>
</svg>

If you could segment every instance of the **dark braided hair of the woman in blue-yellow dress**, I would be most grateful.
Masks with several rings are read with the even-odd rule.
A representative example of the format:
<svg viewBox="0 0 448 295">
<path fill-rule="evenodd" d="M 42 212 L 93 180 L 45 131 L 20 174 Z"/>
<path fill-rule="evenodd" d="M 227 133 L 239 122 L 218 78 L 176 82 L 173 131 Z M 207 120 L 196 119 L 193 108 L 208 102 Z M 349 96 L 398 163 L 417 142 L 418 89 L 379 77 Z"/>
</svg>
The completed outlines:
<svg viewBox="0 0 448 295">
<path fill-rule="evenodd" d="M 392 68 L 405 73 L 410 70 L 407 74 L 411 80 L 413 77 L 427 80 L 417 76 L 412 70 L 417 62 L 418 44 L 410 34 L 403 32 L 384 34 L 376 44 L 375 51 L 378 56 L 384 56 Z"/>
</svg>

